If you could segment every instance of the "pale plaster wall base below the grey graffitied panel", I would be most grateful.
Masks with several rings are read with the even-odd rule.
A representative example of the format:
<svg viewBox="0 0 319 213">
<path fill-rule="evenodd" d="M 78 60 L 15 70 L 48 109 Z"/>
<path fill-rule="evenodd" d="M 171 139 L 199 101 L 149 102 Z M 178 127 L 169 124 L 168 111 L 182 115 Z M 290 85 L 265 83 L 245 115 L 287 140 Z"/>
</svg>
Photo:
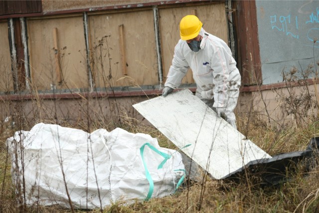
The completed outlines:
<svg viewBox="0 0 319 213">
<path fill-rule="evenodd" d="M 236 114 L 279 129 L 317 121 L 318 83 L 288 82 L 284 87 L 241 92 Z M 262 125 L 261 123 L 261 125 Z"/>
</svg>

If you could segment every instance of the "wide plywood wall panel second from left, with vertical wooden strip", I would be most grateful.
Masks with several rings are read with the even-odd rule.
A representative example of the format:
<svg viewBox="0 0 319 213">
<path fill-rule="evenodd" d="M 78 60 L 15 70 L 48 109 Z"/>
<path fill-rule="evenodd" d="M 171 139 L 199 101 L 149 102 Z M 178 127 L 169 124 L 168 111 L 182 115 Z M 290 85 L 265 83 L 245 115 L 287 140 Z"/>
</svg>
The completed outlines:
<svg viewBox="0 0 319 213">
<path fill-rule="evenodd" d="M 27 19 L 27 28 L 31 80 L 38 90 L 51 89 L 51 84 L 55 84 L 57 89 L 89 87 L 81 14 L 75 17 Z M 55 28 L 60 74 L 64 79 L 61 85 L 53 50 Z"/>
</svg>

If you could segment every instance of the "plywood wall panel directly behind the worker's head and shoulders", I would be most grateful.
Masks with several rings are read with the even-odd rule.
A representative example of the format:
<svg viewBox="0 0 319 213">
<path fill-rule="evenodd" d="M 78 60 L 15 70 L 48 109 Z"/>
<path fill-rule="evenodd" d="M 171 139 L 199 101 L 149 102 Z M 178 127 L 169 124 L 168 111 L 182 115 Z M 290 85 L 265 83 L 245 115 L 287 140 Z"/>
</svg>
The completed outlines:
<svg viewBox="0 0 319 213">
<path fill-rule="evenodd" d="M 163 64 L 163 82 L 165 82 L 174 54 L 174 47 L 180 39 L 179 21 L 188 14 L 194 14 L 203 23 L 203 28 L 228 43 L 225 2 L 212 2 L 205 5 L 160 8 L 160 39 Z M 182 83 L 193 83 L 192 73 L 189 71 Z"/>
</svg>

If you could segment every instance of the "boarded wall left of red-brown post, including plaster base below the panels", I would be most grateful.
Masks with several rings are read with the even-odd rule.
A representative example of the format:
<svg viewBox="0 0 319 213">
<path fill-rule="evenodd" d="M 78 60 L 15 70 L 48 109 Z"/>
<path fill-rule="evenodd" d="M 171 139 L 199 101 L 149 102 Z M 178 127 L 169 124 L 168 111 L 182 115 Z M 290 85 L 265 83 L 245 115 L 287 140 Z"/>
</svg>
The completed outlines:
<svg viewBox="0 0 319 213">
<path fill-rule="evenodd" d="M 25 22 L 29 58 L 26 64 L 30 87 L 19 92 L 13 91 L 10 79 L 7 18 L 11 17 L 0 22 L 0 35 L 5 38 L 0 41 L 3 42 L 0 54 L 5 56 L 0 73 L 8 77 L 8 86 L 0 87 L 0 121 L 8 116 L 21 121 L 56 120 L 58 123 L 107 123 L 125 117 L 143 121 L 132 105 L 161 94 L 179 39 L 178 23 L 183 16 L 196 14 L 208 32 L 228 42 L 224 1 L 176 1 L 121 8 L 114 7 L 114 2 L 119 1 L 74 2 L 43 1 L 44 13 L 12 17 L 13 23 L 23 26 L 22 21 Z M 87 2 L 90 4 L 85 6 Z M 87 6 L 103 7 L 88 9 Z M 156 21 L 160 46 L 156 42 Z M 16 34 L 16 39 L 21 33 L 23 30 Z M 8 69 L 3 69 L 4 66 Z M 183 79 L 185 87 L 194 88 L 191 76 L 189 72 Z M 23 81 L 29 80 L 25 77 Z M 93 87 L 91 93 L 90 87 Z"/>
</svg>

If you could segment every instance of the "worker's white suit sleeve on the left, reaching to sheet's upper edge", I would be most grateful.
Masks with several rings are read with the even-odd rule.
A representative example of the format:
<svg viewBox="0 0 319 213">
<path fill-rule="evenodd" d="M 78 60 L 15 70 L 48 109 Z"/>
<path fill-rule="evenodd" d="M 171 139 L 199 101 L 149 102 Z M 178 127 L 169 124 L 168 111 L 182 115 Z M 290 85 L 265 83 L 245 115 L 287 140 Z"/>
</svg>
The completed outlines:
<svg viewBox="0 0 319 213">
<path fill-rule="evenodd" d="M 182 47 L 180 41 L 176 44 L 174 49 L 174 57 L 172 64 L 169 67 L 167 79 L 164 86 L 177 88 L 181 84 L 181 80 L 186 75 L 189 65 L 182 54 Z"/>
</svg>

